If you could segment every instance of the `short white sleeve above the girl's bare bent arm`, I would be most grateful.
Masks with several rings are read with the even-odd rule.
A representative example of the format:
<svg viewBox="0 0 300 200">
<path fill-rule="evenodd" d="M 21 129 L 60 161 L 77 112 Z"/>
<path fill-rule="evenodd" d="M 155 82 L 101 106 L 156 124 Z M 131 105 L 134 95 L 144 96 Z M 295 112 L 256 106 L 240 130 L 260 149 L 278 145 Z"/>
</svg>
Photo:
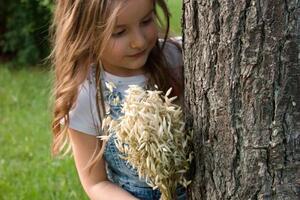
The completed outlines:
<svg viewBox="0 0 300 200">
<path fill-rule="evenodd" d="M 100 135 L 101 126 L 95 95 L 95 87 L 86 80 L 79 88 L 77 101 L 69 113 L 69 128 L 88 135 Z"/>
</svg>

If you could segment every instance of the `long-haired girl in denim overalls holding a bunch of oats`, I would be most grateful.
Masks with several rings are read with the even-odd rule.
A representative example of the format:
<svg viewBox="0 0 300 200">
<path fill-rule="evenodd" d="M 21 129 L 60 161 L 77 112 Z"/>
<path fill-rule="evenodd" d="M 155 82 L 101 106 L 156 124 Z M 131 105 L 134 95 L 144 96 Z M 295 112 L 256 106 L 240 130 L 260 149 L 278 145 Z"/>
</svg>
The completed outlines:
<svg viewBox="0 0 300 200">
<path fill-rule="evenodd" d="M 158 39 L 166 18 L 164 39 Z M 93 200 L 159 199 L 135 169 L 122 160 L 115 137 L 105 143 L 101 120 L 118 118 L 128 85 L 154 84 L 182 94 L 181 51 L 167 39 L 169 12 L 164 0 L 56 1 L 53 22 L 55 66 L 54 155 L 70 149 L 81 184 Z M 115 85 L 108 89 L 106 82 Z M 178 187 L 177 199 L 186 199 Z"/>
</svg>

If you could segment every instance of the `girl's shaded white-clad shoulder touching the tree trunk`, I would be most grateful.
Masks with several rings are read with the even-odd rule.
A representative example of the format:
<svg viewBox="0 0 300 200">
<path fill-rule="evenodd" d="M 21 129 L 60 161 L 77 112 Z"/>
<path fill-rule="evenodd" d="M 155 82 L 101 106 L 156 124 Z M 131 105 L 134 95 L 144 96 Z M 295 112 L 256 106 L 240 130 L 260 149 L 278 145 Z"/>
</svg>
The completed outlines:
<svg viewBox="0 0 300 200">
<path fill-rule="evenodd" d="M 179 66 L 183 66 L 181 47 L 182 37 L 172 37 L 165 43 L 163 52 L 170 68 L 178 68 Z"/>
</svg>

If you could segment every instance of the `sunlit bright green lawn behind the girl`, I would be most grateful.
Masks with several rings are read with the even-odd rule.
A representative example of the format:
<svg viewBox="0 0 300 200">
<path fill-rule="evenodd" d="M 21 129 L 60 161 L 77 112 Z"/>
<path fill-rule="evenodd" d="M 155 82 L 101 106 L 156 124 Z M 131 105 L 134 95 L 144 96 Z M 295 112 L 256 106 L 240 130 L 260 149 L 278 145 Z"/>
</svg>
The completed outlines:
<svg viewBox="0 0 300 200">
<path fill-rule="evenodd" d="M 168 3 L 180 34 L 181 2 Z M 50 155 L 49 79 L 46 69 L 0 65 L 0 200 L 88 199 L 73 160 Z"/>
</svg>

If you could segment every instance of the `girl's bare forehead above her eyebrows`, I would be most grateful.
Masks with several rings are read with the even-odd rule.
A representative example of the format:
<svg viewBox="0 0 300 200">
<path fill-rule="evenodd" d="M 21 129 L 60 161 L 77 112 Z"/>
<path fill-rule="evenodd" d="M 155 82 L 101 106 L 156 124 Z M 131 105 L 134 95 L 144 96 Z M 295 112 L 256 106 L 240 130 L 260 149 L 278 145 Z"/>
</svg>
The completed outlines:
<svg viewBox="0 0 300 200">
<path fill-rule="evenodd" d="M 116 19 L 117 26 L 129 25 L 146 17 L 153 10 L 153 2 L 154 0 L 123 1 Z"/>
</svg>

